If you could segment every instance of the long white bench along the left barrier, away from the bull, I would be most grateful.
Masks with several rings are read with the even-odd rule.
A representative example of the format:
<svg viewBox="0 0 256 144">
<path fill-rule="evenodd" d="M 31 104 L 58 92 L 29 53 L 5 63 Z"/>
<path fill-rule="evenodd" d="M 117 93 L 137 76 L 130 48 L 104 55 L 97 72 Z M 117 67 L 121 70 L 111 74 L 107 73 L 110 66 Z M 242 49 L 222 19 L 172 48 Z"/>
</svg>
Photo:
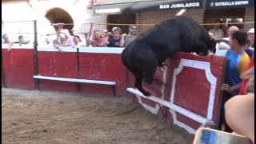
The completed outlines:
<svg viewBox="0 0 256 144">
<path fill-rule="evenodd" d="M 116 96 L 116 82 L 111 81 L 99 81 L 99 80 L 91 80 L 91 79 L 80 79 L 80 78 L 58 78 L 58 77 L 48 77 L 42 75 L 34 75 L 33 78 L 38 79 L 47 79 L 54 81 L 63 81 L 63 82 L 80 82 L 80 83 L 94 83 L 94 84 L 102 84 L 102 85 L 111 85 L 113 94 Z"/>
</svg>

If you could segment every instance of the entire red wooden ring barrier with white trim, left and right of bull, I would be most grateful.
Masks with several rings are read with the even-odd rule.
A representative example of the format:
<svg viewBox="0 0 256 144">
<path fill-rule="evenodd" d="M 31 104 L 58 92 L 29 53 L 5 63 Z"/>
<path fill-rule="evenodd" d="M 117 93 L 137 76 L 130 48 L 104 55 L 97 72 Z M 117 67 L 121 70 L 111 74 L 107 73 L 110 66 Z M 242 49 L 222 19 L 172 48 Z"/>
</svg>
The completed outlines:
<svg viewBox="0 0 256 144">
<path fill-rule="evenodd" d="M 14 45 L 16 46 L 16 45 Z M 3 70 L 7 87 L 34 89 L 33 46 L 16 46 L 10 52 L 2 45 Z M 30 47 L 30 48 L 27 48 Z M 123 48 L 63 48 L 64 54 L 53 46 L 38 46 L 38 75 L 58 78 L 82 78 L 116 82 L 116 94 L 122 97 L 127 87 L 134 87 L 134 76 L 127 73 L 122 65 Z M 220 106 L 220 86 L 226 58 L 212 56 L 199 57 L 178 53 L 166 61 L 166 69 L 158 68 L 152 85 L 143 84 L 146 90 L 174 106 L 182 107 L 203 118 L 218 123 Z M 79 69 L 78 69 L 79 67 Z M 126 75 L 128 74 L 128 75 Z M 225 73 L 224 73 L 225 74 Z M 2 75 L 3 78 L 3 75 Z M 92 83 L 61 82 L 39 79 L 40 90 L 78 91 L 93 94 L 114 95 L 112 86 Z M 3 81 L 2 81 L 3 86 Z M 128 93 L 130 98 L 134 94 Z M 189 115 L 178 114 L 166 106 L 160 106 L 146 98 L 136 97 L 147 110 L 162 114 L 190 133 L 201 125 Z"/>
</svg>

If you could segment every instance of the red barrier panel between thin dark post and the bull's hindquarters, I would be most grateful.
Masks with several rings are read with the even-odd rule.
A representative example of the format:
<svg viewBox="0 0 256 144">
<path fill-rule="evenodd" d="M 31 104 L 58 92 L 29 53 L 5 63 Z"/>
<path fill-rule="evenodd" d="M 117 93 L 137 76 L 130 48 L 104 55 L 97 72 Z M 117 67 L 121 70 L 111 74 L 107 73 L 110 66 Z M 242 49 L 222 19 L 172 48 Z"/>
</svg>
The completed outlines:
<svg viewBox="0 0 256 144">
<path fill-rule="evenodd" d="M 80 53 L 80 78 L 116 82 L 116 96 L 126 92 L 126 68 L 121 54 Z M 112 86 L 86 85 L 81 90 L 98 94 L 113 95 Z"/>
</svg>

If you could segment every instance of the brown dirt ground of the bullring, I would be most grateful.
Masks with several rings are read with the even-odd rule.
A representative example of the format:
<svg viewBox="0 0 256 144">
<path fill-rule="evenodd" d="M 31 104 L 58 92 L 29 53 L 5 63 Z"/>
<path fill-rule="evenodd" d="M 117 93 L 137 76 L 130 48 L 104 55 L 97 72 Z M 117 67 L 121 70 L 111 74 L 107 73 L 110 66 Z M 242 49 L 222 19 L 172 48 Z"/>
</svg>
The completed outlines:
<svg viewBox="0 0 256 144">
<path fill-rule="evenodd" d="M 2 88 L 3 144 L 190 144 L 193 139 L 129 98 Z"/>
</svg>

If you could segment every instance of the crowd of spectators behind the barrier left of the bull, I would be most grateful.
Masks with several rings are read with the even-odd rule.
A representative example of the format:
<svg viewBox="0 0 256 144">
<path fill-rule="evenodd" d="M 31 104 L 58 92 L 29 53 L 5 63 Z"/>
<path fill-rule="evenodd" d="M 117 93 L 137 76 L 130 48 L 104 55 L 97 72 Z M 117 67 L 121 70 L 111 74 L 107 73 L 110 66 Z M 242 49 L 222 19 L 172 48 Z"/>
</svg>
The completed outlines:
<svg viewBox="0 0 256 144">
<path fill-rule="evenodd" d="M 93 30 L 92 34 L 78 33 L 78 30 L 67 30 L 63 29 L 63 25 L 58 26 L 57 35 L 46 35 L 46 45 L 52 45 L 62 52 L 62 46 L 76 47 L 125 47 L 136 38 L 137 27 L 134 25 L 129 26 L 128 34 L 122 34 L 122 30 L 119 27 L 113 27 L 109 32 L 108 30 Z M 70 32 L 71 31 L 71 32 Z M 54 39 L 53 39 L 54 38 Z M 11 50 L 11 46 L 14 43 L 28 44 L 30 41 L 24 40 L 21 35 L 18 37 L 19 41 L 11 41 L 7 34 L 2 35 L 2 43 L 8 44 L 8 50 Z"/>
</svg>

